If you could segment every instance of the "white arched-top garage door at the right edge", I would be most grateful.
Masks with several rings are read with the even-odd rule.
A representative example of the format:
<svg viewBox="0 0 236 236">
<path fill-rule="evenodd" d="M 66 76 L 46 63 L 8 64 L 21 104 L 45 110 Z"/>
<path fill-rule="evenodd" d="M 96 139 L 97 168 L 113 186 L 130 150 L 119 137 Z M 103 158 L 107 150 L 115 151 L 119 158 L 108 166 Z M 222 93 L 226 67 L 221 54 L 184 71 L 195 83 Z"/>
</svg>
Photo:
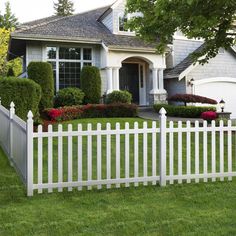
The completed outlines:
<svg viewBox="0 0 236 236">
<path fill-rule="evenodd" d="M 195 94 L 209 97 L 219 102 L 225 101 L 225 111 L 236 118 L 236 78 L 213 78 L 195 82 Z M 219 107 L 218 107 L 219 109 Z"/>
</svg>

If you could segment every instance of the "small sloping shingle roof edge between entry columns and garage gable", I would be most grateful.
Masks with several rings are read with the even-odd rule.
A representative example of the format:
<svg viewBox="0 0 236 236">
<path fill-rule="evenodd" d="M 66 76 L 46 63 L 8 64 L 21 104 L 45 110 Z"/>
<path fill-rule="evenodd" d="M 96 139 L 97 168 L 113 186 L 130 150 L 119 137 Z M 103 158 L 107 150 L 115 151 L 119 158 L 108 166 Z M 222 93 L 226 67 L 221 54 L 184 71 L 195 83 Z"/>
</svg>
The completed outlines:
<svg viewBox="0 0 236 236">
<path fill-rule="evenodd" d="M 199 48 L 197 48 L 194 52 L 200 52 L 204 48 L 204 44 L 202 44 Z M 178 78 L 179 75 L 185 71 L 189 66 L 194 63 L 192 55 L 189 54 L 182 62 L 176 65 L 174 68 L 166 69 L 164 71 L 165 78 Z"/>
</svg>

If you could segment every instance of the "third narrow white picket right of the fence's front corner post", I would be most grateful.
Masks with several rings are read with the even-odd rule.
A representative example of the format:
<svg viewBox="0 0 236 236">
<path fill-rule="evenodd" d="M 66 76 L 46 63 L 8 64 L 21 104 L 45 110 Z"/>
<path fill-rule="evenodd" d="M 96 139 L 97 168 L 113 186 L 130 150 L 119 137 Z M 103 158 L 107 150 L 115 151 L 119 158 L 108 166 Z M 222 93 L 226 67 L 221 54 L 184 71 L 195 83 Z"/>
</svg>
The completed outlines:
<svg viewBox="0 0 236 236">
<path fill-rule="evenodd" d="M 62 155 L 63 155 L 63 138 L 60 135 L 63 131 L 62 125 L 58 125 L 58 182 L 63 182 L 63 162 L 62 162 Z M 62 192 L 62 188 L 58 188 L 58 192 Z"/>
</svg>

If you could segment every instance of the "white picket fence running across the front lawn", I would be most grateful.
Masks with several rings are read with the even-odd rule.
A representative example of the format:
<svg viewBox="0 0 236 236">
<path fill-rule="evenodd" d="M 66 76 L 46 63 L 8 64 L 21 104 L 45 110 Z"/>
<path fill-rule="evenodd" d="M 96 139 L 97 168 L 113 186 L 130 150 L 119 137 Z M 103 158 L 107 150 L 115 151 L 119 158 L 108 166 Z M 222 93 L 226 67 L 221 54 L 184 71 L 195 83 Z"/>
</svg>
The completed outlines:
<svg viewBox="0 0 236 236">
<path fill-rule="evenodd" d="M 84 128 L 78 124 L 76 128 L 68 125 L 66 130 L 62 125 L 49 125 L 47 132 L 42 126 L 34 132 L 31 112 L 27 123 L 15 115 L 11 121 L 8 113 L 0 106 L 0 141 L 27 180 L 28 196 L 34 190 L 165 186 L 236 176 L 236 127 L 231 121 L 226 126 L 223 121 L 219 126 L 214 121 L 211 125 L 167 122 L 162 108 L 158 125 L 107 123 L 106 127 L 88 124 Z M 15 148 L 19 152 L 14 152 Z"/>
</svg>

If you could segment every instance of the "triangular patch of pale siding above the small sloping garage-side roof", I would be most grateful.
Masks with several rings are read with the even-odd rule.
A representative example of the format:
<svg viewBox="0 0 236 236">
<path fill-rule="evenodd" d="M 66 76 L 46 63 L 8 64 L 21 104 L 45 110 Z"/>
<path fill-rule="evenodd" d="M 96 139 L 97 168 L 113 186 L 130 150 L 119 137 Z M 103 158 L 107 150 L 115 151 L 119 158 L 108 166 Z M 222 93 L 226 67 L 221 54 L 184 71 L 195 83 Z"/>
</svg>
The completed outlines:
<svg viewBox="0 0 236 236">
<path fill-rule="evenodd" d="M 176 39 L 173 41 L 173 66 L 182 62 L 190 53 L 202 45 L 202 41 Z"/>
</svg>

